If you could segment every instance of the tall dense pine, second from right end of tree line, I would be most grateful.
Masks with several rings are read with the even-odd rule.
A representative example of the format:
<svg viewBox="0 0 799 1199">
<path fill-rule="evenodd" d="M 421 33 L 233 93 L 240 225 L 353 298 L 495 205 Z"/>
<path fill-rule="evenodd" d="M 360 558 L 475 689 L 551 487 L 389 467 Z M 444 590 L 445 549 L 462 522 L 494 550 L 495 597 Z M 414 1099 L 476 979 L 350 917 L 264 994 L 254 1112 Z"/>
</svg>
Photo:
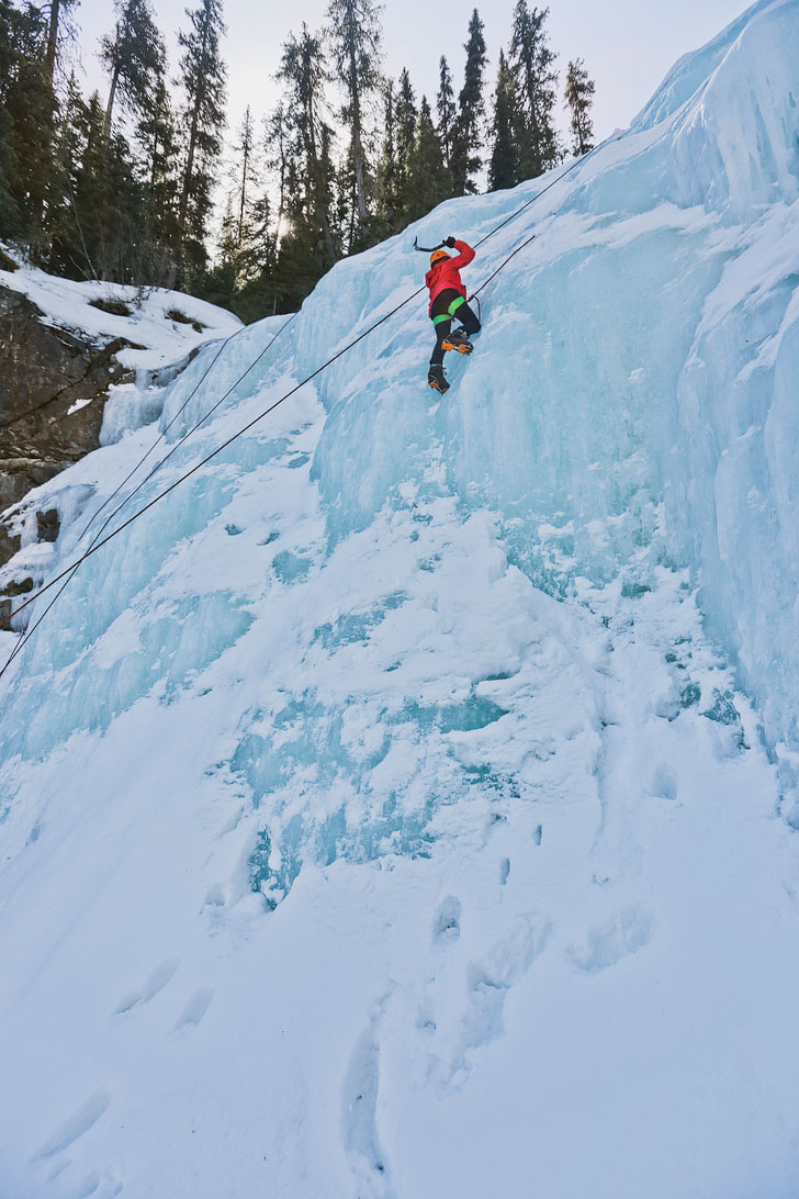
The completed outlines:
<svg viewBox="0 0 799 1199">
<path fill-rule="evenodd" d="M 516 0 L 510 42 L 510 67 L 520 101 L 517 138 L 523 179 L 534 179 L 561 161 L 552 112 L 556 103 L 557 55 L 550 49 L 544 23 L 549 8 L 527 7 Z"/>
</svg>

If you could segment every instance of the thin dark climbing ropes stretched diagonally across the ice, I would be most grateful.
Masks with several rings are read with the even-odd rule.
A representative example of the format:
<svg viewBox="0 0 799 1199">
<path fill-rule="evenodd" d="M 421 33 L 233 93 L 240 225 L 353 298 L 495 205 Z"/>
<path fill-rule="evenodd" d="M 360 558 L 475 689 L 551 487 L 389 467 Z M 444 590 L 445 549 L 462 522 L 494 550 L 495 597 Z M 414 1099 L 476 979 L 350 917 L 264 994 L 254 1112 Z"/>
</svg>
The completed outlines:
<svg viewBox="0 0 799 1199">
<path fill-rule="evenodd" d="M 510 224 L 512 221 L 515 221 L 516 217 L 521 216 L 521 213 L 525 212 L 528 207 L 531 207 L 531 205 L 534 204 L 537 200 L 539 200 L 541 198 L 541 195 L 545 195 L 546 192 L 549 192 L 552 187 L 555 187 L 563 179 L 565 179 L 567 175 L 570 175 L 571 171 L 575 170 L 577 167 L 583 165 L 589 157 L 592 157 L 599 150 L 601 150 L 603 146 L 605 146 L 610 140 L 612 140 L 612 138 L 606 138 L 598 146 L 595 146 L 593 150 L 591 150 L 587 155 L 583 155 L 581 158 L 576 158 L 569 167 L 567 167 L 565 170 L 561 171 L 561 174 L 556 179 L 551 180 L 546 185 L 546 187 L 543 187 L 540 192 L 537 192 L 535 195 L 531 197 L 525 204 L 522 204 L 519 209 L 516 209 L 514 212 L 512 212 L 510 216 L 506 217 L 504 221 L 502 221 L 498 225 L 496 225 L 496 228 L 491 229 L 488 234 L 485 234 L 484 237 L 480 237 L 480 240 L 476 245 L 476 248 L 479 248 L 480 246 L 483 246 L 486 241 L 489 241 L 490 237 L 494 237 L 495 234 L 500 233 L 501 229 L 504 229 L 506 225 Z M 474 295 L 477 296 L 480 291 L 483 291 L 489 285 L 489 283 L 491 283 L 492 279 L 496 278 L 496 276 L 500 273 L 500 271 L 502 271 L 508 265 L 508 263 L 516 254 L 519 254 L 526 246 L 528 246 L 534 239 L 535 239 L 535 234 L 533 234 L 532 236 L 527 237 L 526 241 L 523 241 L 510 254 L 508 254 L 508 257 L 500 264 L 500 266 L 497 266 L 497 269 L 489 276 L 489 278 L 485 279 L 485 282 L 480 284 L 480 287 L 477 289 L 477 291 L 474 293 Z M 77 570 L 86 561 L 86 559 L 91 558 L 92 554 L 96 554 L 98 549 L 102 549 L 103 546 L 107 546 L 109 541 L 113 541 L 114 537 L 116 537 L 116 536 L 119 536 L 119 534 L 123 532 L 128 528 L 128 525 L 133 524 L 134 520 L 138 520 L 139 517 L 143 517 L 145 514 L 145 512 L 149 512 L 150 508 L 155 507 L 156 504 L 158 504 L 158 502 L 161 502 L 161 500 L 165 499 L 171 492 L 175 490 L 176 487 L 180 487 L 180 484 L 183 483 L 183 482 L 186 482 L 187 478 L 190 478 L 192 475 L 195 475 L 198 472 L 198 470 L 201 470 L 202 466 L 206 466 L 210 462 L 212 462 L 213 458 L 217 457 L 217 454 L 220 454 L 224 450 L 228 448 L 228 446 L 232 445 L 234 441 L 237 441 L 238 438 L 241 438 L 246 433 L 248 433 L 255 424 L 258 424 L 266 416 L 268 416 L 270 412 L 273 412 L 276 408 L 279 408 L 279 405 L 283 404 L 283 403 L 285 403 L 286 399 L 290 399 L 292 396 L 295 396 L 302 387 L 305 386 L 305 384 L 311 382 L 323 370 L 327 370 L 328 367 L 333 366 L 334 362 L 337 362 L 340 357 L 343 357 L 351 349 L 353 349 L 356 345 L 358 345 L 359 342 L 363 342 L 364 338 L 369 337 L 370 333 L 374 333 L 374 331 L 376 329 L 380 329 L 380 326 L 385 325 L 387 320 L 391 320 L 392 317 L 395 317 L 398 312 L 400 312 L 402 308 L 405 308 L 413 300 L 416 300 L 417 296 L 419 296 L 425 290 L 425 287 L 426 287 L 426 284 L 422 284 L 420 288 L 417 288 L 416 291 L 412 293 L 412 295 L 407 296 L 405 300 L 402 300 L 400 303 L 398 303 L 397 307 L 394 307 L 394 308 L 391 309 L 391 312 L 387 312 L 379 320 L 374 321 L 374 324 L 369 325 L 369 327 L 365 329 L 362 333 L 359 333 L 358 337 L 355 337 L 351 342 L 347 342 L 347 344 L 345 347 L 343 347 L 343 349 L 338 350 L 334 355 L 332 355 L 329 359 L 327 359 L 327 361 L 322 362 L 321 366 L 316 367 L 315 370 L 313 370 L 310 374 L 305 375 L 304 379 L 302 379 L 298 384 L 296 384 L 284 396 L 280 396 L 279 399 L 276 399 L 273 404 L 270 404 L 270 406 L 266 408 L 266 409 L 264 409 L 262 412 L 259 412 L 259 415 L 255 416 L 255 417 L 253 417 L 252 421 L 248 421 L 247 424 L 242 426 L 242 428 L 238 429 L 236 433 L 234 433 L 230 438 L 228 438 L 226 441 L 223 441 L 222 445 L 217 446 L 217 448 L 213 450 L 210 454 L 206 454 L 206 457 L 202 458 L 200 462 L 198 462 L 194 466 L 192 466 L 190 470 L 187 470 L 183 475 L 180 475 L 172 483 L 170 483 L 169 487 L 164 488 L 163 492 L 159 492 L 158 495 L 153 496 L 153 499 L 150 500 L 147 504 L 145 504 L 145 506 L 143 508 L 139 508 L 137 512 L 133 513 L 133 516 L 128 517 L 127 520 L 125 520 L 121 525 L 119 525 L 116 529 L 114 529 L 111 532 L 109 532 L 108 536 L 103 537 L 102 534 L 103 534 L 104 529 L 108 526 L 108 524 L 110 523 L 110 520 L 113 520 L 113 518 L 116 516 L 116 513 L 122 507 L 125 507 L 125 505 L 133 498 L 133 495 L 135 495 L 138 493 L 138 490 L 141 487 L 144 487 L 144 484 L 152 477 L 152 475 L 155 475 L 156 471 L 161 469 L 161 466 L 168 460 L 168 458 L 171 457 L 171 454 L 178 448 L 178 446 L 182 445 L 183 441 L 186 441 L 186 439 L 188 436 L 190 436 L 190 434 L 193 432 L 195 432 L 195 429 L 198 429 L 200 427 L 200 424 L 202 424 L 207 420 L 207 417 L 216 411 L 216 409 L 219 406 L 219 404 L 222 404 L 223 400 L 226 399 L 228 396 L 230 396 L 231 392 L 236 390 L 236 387 L 254 369 L 254 367 L 258 364 L 258 362 L 261 361 L 261 359 L 264 357 L 264 355 L 266 354 L 266 351 L 270 349 L 270 347 L 273 344 L 273 342 L 277 339 L 277 337 L 279 337 L 279 335 L 283 332 L 283 330 L 297 315 L 297 313 L 293 313 L 292 317 L 284 325 L 280 326 L 280 329 L 274 335 L 274 337 L 268 343 L 268 345 L 264 350 L 261 350 L 261 353 L 254 360 L 254 362 L 252 362 L 250 366 L 247 368 L 247 370 L 244 370 L 243 374 L 241 374 L 238 376 L 238 379 L 232 384 L 231 387 L 229 387 L 229 390 L 225 392 L 225 394 L 219 400 L 217 400 L 217 403 L 213 405 L 213 408 L 210 409 L 210 411 L 202 417 L 202 420 L 199 421 L 199 423 L 195 424 L 193 427 L 193 429 L 189 429 L 188 433 L 186 433 L 183 435 L 183 438 L 181 439 L 181 441 L 178 441 L 172 447 L 172 450 L 170 450 L 170 452 L 153 468 L 153 470 L 144 480 L 141 480 L 141 482 L 131 493 L 131 495 L 128 495 L 127 499 L 123 500 L 123 502 L 121 505 L 119 505 L 119 507 L 115 508 L 114 512 L 111 512 L 111 514 L 107 518 L 105 523 L 101 528 L 99 532 L 96 535 L 96 537 L 92 541 L 92 543 L 89 547 L 89 549 L 80 558 L 75 559 L 74 562 L 72 562 L 63 571 L 61 571 L 53 579 L 50 579 L 50 582 L 47 583 L 43 588 L 41 588 L 36 592 L 36 595 L 30 596 L 28 600 L 25 600 L 24 603 L 19 604 L 18 608 L 14 608 L 8 614 L 8 620 L 11 620 L 13 616 L 17 616 L 20 611 L 23 611 L 25 608 L 28 608 L 29 604 L 31 604 L 36 600 L 41 598 L 41 596 L 43 596 L 47 591 L 50 591 L 57 583 L 60 583 L 61 580 L 66 579 L 66 582 L 63 583 L 63 586 L 59 589 L 59 591 L 53 597 L 53 600 L 50 601 L 50 603 L 47 605 L 47 608 L 44 609 L 44 611 L 42 613 L 42 615 L 35 621 L 35 623 L 30 628 L 25 629 L 25 632 L 22 635 L 20 640 L 18 641 L 18 644 L 12 650 L 12 652 L 11 652 L 8 659 L 6 661 L 5 665 L 2 667 L 2 669 L 0 669 L 0 679 L 2 679 L 4 674 L 6 673 L 6 670 L 8 669 L 8 667 L 11 665 L 11 663 L 13 662 L 13 659 L 17 657 L 17 653 L 23 649 L 23 646 L 25 645 L 25 643 L 28 641 L 28 639 L 38 628 L 38 626 L 41 625 L 41 622 L 47 616 L 48 611 L 52 609 L 53 604 L 56 602 L 56 600 L 59 598 L 59 596 L 63 592 L 65 588 L 68 585 L 69 580 L 72 579 L 72 577 L 74 576 L 74 573 L 77 572 Z M 232 335 L 232 337 L 237 337 L 242 332 L 243 332 L 243 330 L 237 330 L 236 333 Z M 194 396 L 196 393 L 196 390 L 199 388 L 200 384 L 202 382 L 202 380 L 208 374 L 208 370 L 213 367 L 213 364 L 218 360 L 219 355 L 224 350 L 225 345 L 230 341 L 232 341 L 232 337 L 228 338 L 228 342 L 225 342 L 220 347 L 219 351 L 217 353 L 217 355 L 213 359 L 213 362 L 211 362 L 211 364 L 208 366 L 207 370 L 205 372 L 205 375 L 202 375 L 202 378 L 198 381 L 198 384 L 194 387 L 194 391 L 189 394 L 188 399 L 183 403 L 183 405 L 180 409 L 180 411 L 175 414 L 175 417 L 172 417 L 172 421 L 170 421 L 170 426 L 174 423 L 175 420 L 177 420 L 177 416 L 180 416 L 180 414 L 183 411 L 183 409 L 188 404 L 188 402 L 192 398 L 192 396 Z M 167 426 L 167 429 L 169 429 L 170 426 Z M 153 446 L 151 447 L 151 450 L 147 451 L 147 453 L 141 459 L 141 462 L 139 462 L 139 464 L 137 466 L 134 466 L 134 469 L 131 471 L 131 474 L 127 476 L 127 478 L 116 489 L 116 492 L 114 493 L 114 495 L 119 494 L 119 492 L 121 490 L 121 488 L 125 486 L 125 482 L 127 482 L 135 474 L 135 471 L 139 469 L 139 466 L 141 465 L 141 463 L 150 456 L 150 453 L 152 452 L 152 448 L 155 448 L 155 446 L 163 439 L 167 429 L 163 430 L 163 433 L 157 439 L 157 441 L 153 444 Z M 108 500 L 104 501 L 103 507 L 108 502 L 110 502 L 110 500 L 114 498 L 114 495 L 109 496 Z M 98 508 L 98 511 L 92 517 L 92 520 L 89 522 L 89 525 L 86 525 L 86 529 L 84 529 L 84 532 L 81 534 L 81 537 L 87 531 L 87 529 L 91 525 L 91 523 L 93 522 L 95 517 L 98 516 L 99 511 L 102 511 L 102 508 Z"/>
</svg>

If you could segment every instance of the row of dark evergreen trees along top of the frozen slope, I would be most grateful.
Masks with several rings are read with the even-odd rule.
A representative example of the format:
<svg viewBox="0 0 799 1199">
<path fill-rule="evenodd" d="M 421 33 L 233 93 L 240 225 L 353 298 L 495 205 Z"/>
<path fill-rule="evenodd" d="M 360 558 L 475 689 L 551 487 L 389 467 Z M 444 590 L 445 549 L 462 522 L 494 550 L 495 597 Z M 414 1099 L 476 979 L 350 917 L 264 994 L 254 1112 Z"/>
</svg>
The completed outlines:
<svg viewBox="0 0 799 1199">
<path fill-rule="evenodd" d="M 226 155 L 222 0 L 186 11 L 175 79 L 150 0 L 116 0 L 104 100 L 63 66 L 75 2 L 0 0 L 0 239 L 56 273 L 183 287 L 244 319 L 290 311 L 339 258 L 441 200 L 592 145 L 594 85 L 569 62 L 567 146 L 549 10 L 527 0 L 492 96 L 474 10 L 462 84 L 442 56 L 432 103 L 407 70 L 385 77 L 375 0 L 331 0 L 323 30 L 289 34 L 280 102 L 261 122 L 248 108 Z"/>
</svg>

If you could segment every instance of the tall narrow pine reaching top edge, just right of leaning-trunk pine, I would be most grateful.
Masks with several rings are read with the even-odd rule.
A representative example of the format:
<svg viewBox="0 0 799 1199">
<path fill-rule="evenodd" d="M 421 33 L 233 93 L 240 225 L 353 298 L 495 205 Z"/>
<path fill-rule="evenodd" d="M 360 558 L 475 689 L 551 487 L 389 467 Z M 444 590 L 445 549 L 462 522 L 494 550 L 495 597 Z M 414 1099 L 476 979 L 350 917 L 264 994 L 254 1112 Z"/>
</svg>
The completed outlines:
<svg viewBox="0 0 799 1199">
<path fill-rule="evenodd" d="M 211 213 L 214 165 L 222 150 L 225 123 L 225 65 L 219 41 L 225 32 L 220 0 L 200 0 L 187 8 L 188 34 L 178 34 L 183 48 L 181 82 L 186 92 L 183 116 L 188 126 L 178 203 L 183 270 L 190 278 L 205 270 L 205 236 Z"/>
</svg>

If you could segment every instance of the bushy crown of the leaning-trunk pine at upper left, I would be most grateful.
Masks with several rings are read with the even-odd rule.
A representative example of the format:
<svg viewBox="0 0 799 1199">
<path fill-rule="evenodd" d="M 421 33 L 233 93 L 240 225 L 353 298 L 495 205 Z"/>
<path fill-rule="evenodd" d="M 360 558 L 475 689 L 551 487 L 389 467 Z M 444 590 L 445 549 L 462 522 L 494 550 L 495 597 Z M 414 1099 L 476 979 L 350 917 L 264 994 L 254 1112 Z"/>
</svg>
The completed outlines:
<svg viewBox="0 0 799 1199">
<path fill-rule="evenodd" d="M 99 43 L 99 59 L 110 74 L 104 135 L 111 132 L 111 115 L 119 95 L 122 104 L 139 116 L 152 108 L 157 80 L 167 64 L 164 40 L 147 0 L 116 0 L 114 34 Z"/>
</svg>

